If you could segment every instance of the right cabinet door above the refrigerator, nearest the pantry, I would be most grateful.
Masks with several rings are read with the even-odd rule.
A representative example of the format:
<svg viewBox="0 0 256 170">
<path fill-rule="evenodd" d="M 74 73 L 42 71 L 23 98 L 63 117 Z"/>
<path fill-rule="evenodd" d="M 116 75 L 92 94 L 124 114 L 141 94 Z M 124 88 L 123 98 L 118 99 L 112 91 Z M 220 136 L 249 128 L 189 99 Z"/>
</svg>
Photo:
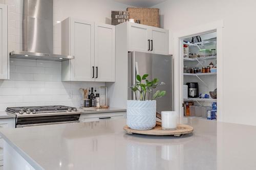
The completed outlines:
<svg viewBox="0 0 256 170">
<path fill-rule="evenodd" d="M 167 55 L 168 54 L 168 30 L 152 27 L 152 52 L 154 54 L 163 54 Z"/>
</svg>

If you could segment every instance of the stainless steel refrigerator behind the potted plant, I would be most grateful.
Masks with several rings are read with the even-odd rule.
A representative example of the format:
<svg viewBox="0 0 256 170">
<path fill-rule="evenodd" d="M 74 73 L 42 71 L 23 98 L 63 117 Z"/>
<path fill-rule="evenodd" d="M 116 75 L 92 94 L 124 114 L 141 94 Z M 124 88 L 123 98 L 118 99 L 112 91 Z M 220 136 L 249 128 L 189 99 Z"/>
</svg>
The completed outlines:
<svg viewBox="0 0 256 170">
<path fill-rule="evenodd" d="M 156 99 L 157 112 L 173 110 L 173 57 L 170 55 L 156 55 L 141 52 L 129 52 L 128 54 L 128 100 L 134 100 L 135 94 L 130 87 L 135 84 L 136 75 L 148 74 L 148 80 L 154 78 L 164 82 L 165 85 L 153 90 L 152 95 L 157 90 L 165 90 L 166 94 L 162 98 Z"/>
</svg>

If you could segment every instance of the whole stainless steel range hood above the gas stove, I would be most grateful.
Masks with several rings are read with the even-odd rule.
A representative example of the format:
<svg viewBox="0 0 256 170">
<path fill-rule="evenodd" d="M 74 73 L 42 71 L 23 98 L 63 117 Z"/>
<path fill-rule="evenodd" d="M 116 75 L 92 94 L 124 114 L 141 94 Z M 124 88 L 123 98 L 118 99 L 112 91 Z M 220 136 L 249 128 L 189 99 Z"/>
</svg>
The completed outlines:
<svg viewBox="0 0 256 170">
<path fill-rule="evenodd" d="M 73 56 L 53 54 L 53 0 L 23 0 L 23 51 L 10 58 L 64 61 Z"/>
</svg>

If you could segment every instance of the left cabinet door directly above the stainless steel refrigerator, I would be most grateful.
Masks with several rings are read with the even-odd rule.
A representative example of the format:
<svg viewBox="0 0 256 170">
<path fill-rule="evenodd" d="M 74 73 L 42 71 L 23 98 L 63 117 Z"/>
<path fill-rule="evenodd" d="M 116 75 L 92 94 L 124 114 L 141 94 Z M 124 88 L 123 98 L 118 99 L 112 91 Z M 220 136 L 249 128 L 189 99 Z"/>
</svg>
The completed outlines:
<svg viewBox="0 0 256 170">
<path fill-rule="evenodd" d="M 128 23 L 128 50 L 150 53 L 150 26 Z"/>
</svg>

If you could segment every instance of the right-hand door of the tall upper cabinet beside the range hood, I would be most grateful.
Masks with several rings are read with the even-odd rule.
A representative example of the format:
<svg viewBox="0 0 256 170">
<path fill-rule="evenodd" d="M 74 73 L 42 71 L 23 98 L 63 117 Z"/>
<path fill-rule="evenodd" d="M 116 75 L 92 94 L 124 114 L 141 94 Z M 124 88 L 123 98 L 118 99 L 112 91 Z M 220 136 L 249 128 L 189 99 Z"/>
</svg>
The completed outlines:
<svg viewBox="0 0 256 170">
<path fill-rule="evenodd" d="M 115 26 L 95 23 L 95 81 L 115 81 Z"/>
</svg>

